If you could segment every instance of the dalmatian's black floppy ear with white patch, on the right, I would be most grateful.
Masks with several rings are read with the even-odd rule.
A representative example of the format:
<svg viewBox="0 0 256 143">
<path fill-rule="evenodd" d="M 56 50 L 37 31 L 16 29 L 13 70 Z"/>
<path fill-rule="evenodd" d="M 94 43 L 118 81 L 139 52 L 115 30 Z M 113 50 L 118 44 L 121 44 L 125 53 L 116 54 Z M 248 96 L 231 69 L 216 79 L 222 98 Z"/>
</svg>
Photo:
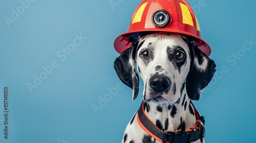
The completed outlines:
<svg viewBox="0 0 256 143">
<path fill-rule="evenodd" d="M 191 100 L 199 100 L 201 91 L 208 85 L 216 71 L 216 64 L 195 43 L 190 43 L 190 70 L 186 90 Z"/>
</svg>

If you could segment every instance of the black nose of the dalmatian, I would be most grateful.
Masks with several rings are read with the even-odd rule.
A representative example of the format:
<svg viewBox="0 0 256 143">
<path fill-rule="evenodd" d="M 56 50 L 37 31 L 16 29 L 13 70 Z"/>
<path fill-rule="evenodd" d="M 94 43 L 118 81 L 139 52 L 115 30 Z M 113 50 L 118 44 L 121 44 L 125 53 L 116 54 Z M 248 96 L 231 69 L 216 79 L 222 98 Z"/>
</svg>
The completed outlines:
<svg viewBox="0 0 256 143">
<path fill-rule="evenodd" d="M 150 86 L 158 92 L 165 91 L 170 86 L 169 78 L 162 75 L 154 75 L 150 79 Z"/>
</svg>

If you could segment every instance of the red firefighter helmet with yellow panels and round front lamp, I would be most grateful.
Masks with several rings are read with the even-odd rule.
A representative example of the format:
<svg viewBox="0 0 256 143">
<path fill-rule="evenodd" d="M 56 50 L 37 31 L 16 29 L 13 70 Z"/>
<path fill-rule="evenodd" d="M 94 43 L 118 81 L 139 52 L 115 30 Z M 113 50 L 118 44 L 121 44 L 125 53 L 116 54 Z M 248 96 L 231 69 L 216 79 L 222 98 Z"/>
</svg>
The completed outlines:
<svg viewBox="0 0 256 143">
<path fill-rule="evenodd" d="M 114 41 L 115 50 L 122 53 L 142 35 L 153 32 L 171 32 L 194 37 L 198 48 L 207 56 L 211 49 L 200 38 L 197 17 L 185 0 L 144 0 L 133 14 L 130 28 Z"/>
</svg>

